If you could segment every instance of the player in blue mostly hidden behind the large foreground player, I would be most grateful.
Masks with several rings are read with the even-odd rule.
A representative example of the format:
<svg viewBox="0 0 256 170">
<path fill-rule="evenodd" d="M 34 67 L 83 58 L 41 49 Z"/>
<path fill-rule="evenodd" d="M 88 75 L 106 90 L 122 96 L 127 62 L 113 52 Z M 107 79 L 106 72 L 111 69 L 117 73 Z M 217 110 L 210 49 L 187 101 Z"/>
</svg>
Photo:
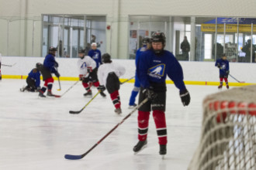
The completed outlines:
<svg viewBox="0 0 256 170">
<path fill-rule="evenodd" d="M 143 46 L 140 49 L 138 49 L 136 53 L 136 58 L 135 58 L 136 65 L 137 65 L 138 59 L 140 58 L 141 53 L 143 53 L 147 49 L 150 49 L 150 38 L 145 37 L 144 39 L 142 39 L 142 45 Z M 134 83 L 132 93 L 130 95 L 129 108 L 133 108 L 137 106 L 137 104 L 135 104 L 135 100 L 139 91 L 140 91 L 140 81 L 138 80 L 137 75 L 135 74 L 135 83 Z"/>
</svg>

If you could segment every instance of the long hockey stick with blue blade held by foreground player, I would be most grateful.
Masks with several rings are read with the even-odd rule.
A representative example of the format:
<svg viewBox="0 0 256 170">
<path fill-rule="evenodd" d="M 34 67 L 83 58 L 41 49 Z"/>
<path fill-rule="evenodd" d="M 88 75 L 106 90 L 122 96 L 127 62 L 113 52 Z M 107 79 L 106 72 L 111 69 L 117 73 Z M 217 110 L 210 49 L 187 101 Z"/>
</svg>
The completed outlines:
<svg viewBox="0 0 256 170">
<path fill-rule="evenodd" d="M 116 128 L 119 127 L 120 124 L 123 124 L 124 121 L 126 121 L 126 119 L 128 117 L 130 117 L 130 115 L 132 115 L 136 110 L 138 110 L 143 104 L 145 104 L 147 102 L 148 98 L 144 99 L 137 107 L 135 107 L 130 114 L 128 114 L 126 117 L 123 118 L 122 121 L 120 121 L 118 124 L 116 124 L 116 126 L 114 128 L 112 128 L 103 138 L 101 138 L 95 145 L 92 146 L 92 148 L 90 148 L 88 151 L 85 152 L 85 154 L 83 155 L 65 155 L 66 159 L 70 159 L 70 160 L 76 160 L 76 159 L 81 159 L 84 158 L 85 155 L 88 155 L 88 153 L 90 151 L 92 151 L 92 149 L 94 149 L 97 145 L 99 145 L 105 138 L 107 138 L 109 136 L 109 134 L 112 133 L 112 131 L 115 131 Z"/>
</svg>

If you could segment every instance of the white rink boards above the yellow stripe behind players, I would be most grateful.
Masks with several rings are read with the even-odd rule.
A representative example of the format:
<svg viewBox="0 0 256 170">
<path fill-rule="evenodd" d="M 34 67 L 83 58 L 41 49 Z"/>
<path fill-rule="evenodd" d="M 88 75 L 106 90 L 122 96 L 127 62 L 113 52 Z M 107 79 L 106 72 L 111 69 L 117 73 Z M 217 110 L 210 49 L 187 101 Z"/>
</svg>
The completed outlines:
<svg viewBox="0 0 256 170">
<path fill-rule="evenodd" d="M 2 74 L 6 75 L 27 75 L 37 62 L 43 62 L 44 57 L 17 57 L 3 56 L 2 63 L 16 66 L 2 66 Z M 77 59 L 57 58 L 61 76 L 78 76 Z M 135 73 L 134 59 L 112 59 L 113 62 L 122 64 L 126 73 L 121 78 L 130 78 Z M 184 72 L 184 80 L 191 81 L 219 81 L 219 70 L 213 62 L 180 62 Z M 246 83 L 256 83 L 256 63 L 230 63 L 230 74 L 237 80 Z M 236 82 L 231 77 L 230 82 Z"/>
</svg>

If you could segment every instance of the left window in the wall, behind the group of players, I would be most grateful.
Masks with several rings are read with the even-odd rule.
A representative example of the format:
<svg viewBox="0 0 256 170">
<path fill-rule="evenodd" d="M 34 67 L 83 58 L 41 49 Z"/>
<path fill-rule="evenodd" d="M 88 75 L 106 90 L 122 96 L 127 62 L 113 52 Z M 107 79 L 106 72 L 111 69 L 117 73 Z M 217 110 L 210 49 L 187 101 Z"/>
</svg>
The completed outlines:
<svg viewBox="0 0 256 170">
<path fill-rule="evenodd" d="M 78 50 L 87 54 L 92 42 L 105 53 L 105 28 L 105 15 L 43 15 L 42 56 L 55 46 L 57 57 L 78 57 Z"/>
</svg>

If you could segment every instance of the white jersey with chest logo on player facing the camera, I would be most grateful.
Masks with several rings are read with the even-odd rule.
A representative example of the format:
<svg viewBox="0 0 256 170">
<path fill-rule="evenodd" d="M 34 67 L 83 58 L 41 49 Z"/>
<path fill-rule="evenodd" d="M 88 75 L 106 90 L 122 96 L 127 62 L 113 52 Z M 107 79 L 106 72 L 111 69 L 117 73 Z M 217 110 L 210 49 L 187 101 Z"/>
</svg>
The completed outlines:
<svg viewBox="0 0 256 170">
<path fill-rule="evenodd" d="M 88 66 L 92 67 L 92 70 L 96 67 L 96 62 L 91 58 L 91 56 L 85 56 L 83 59 L 78 59 L 79 74 L 88 76 Z"/>
</svg>

